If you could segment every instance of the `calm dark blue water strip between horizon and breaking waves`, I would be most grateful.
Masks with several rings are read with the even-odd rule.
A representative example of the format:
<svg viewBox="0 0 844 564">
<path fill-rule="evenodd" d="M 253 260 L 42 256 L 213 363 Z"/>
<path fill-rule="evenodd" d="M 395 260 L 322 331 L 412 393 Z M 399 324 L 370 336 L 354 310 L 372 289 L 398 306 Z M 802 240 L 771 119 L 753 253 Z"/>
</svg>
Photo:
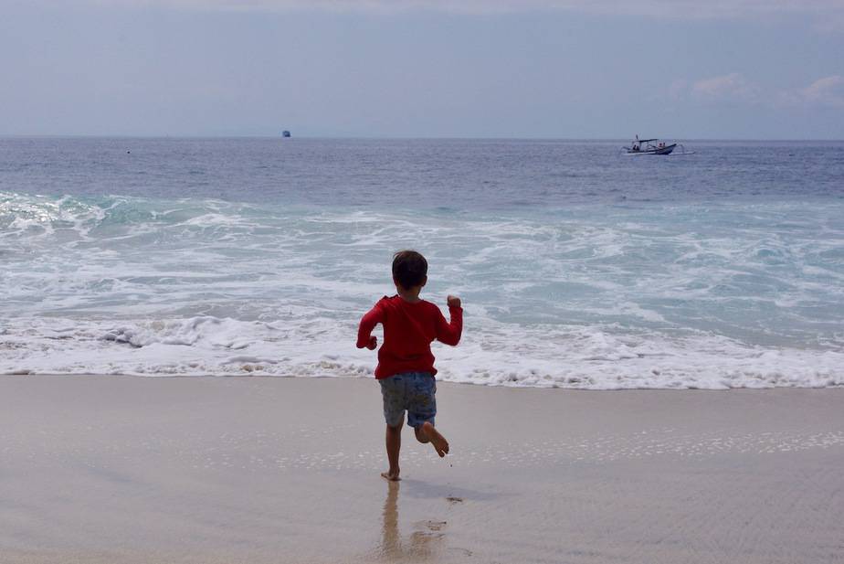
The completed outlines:
<svg viewBox="0 0 844 564">
<path fill-rule="evenodd" d="M 694 155 L 662 158 L 622 144 L 5 139 L 0 190 L 469 211 L 844 197 L 842 142 L 689 142 Z"/>
</svg>

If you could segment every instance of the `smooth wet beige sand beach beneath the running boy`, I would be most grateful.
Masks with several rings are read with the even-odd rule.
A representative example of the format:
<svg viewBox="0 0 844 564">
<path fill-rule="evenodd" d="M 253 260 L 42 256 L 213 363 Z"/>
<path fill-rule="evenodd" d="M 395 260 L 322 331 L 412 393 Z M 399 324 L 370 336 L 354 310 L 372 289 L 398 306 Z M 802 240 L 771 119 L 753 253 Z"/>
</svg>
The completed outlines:
<svg viewBox="0 0 844 564">
<path fill-rule="evenodd" d="M 844 389 L 0 378 L 0 562 L 844 562 Z"/>
</svg>

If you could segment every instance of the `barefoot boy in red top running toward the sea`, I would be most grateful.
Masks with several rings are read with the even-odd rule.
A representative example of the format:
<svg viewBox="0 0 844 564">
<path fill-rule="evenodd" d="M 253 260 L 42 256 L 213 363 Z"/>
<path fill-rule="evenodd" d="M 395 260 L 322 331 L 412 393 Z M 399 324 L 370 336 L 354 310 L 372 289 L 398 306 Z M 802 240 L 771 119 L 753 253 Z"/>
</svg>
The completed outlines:
<svg viewBox="0 0 844 564">
<path fill-rule="evenodd" d="M 396 295 L 383 297 L 361 319 L 357 347 L 375 350 L 377 338 L 372 330 L 384 325 L 384 345 L 378 351 L 375 378 L 381 383 L 386 420 L 386 451 L 390 468 L 382 473 L 387 480 L 398 481 L 398 451 L 402 442 L 402 424 L 407 410 L 407 424 L 414 428 L 417 441 L 430 442 L 440 456 L 448 453 L 448 441 L 434 427 L 437 415 L 437 384 L 431 342 L 438 339 L 456 346 L 463 331 L 463 310 L 458 297 L 448 296 L 447 323 L 439 308 L 419 298 L 427 283 L 427 261 L 416 250 L 400 250 L 393 255 L 393 283 Z"/>
</svg>

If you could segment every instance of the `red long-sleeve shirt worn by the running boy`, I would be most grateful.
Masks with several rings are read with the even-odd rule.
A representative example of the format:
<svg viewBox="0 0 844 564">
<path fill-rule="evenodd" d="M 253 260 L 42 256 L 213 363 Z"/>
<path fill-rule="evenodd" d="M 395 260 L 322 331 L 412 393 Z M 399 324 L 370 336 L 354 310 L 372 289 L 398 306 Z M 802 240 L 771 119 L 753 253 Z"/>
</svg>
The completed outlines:
<svg viewBox="0 0 844 564">
<path fill-rule="evenodd" d="M 389 378 L 403 372 L 437 374 L 431 343 L 434 339 L 455 346 L 463 332 L 463 309 L 449 307 L 448 323 L 439 308 L 430 302 L 406 302 L 401 296 L 384 296 L 364 318 L 357 330 L 357 347 L 369 345 L 372 330 L 384 325 L 384 344 L 378 349 L 375 378 Z"/>
</svg>

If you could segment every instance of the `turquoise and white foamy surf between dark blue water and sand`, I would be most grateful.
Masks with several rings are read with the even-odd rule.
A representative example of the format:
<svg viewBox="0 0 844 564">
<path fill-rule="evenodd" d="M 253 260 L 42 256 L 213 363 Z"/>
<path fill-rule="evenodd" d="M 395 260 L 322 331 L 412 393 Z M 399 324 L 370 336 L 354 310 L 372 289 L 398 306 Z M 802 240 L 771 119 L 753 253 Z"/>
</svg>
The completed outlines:
<svg viewBox="0 0 844 564">
<path fill-rule="evenodd" d="M 435 346 L 439 378 L 841 386 L 841 211 L 500 217 L 2 193 L 0 373 L 371 376 L 356 323 L 410 247 L 431 265 L 424 295 L 466 304 L 460 346 Z"/>
</svg>

